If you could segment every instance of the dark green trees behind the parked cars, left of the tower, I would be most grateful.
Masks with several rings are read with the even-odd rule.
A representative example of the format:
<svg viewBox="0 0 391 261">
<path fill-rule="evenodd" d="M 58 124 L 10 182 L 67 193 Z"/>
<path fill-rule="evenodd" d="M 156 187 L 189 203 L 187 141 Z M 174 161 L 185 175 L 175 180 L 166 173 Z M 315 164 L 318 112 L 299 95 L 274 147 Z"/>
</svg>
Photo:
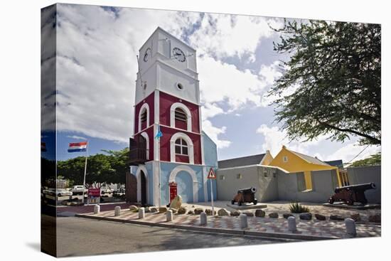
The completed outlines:
<svg viewBox="0 0 391 261">
<path fill-rule="evenodd" d="M 86 183 L 125 183 L 125 174 L 129 148 L 120 151 L 102 150 L 106 154 L 88 156 Z M 83 183 L 85 156 L 78 156 L 65 161 L 58 161 L 57 175 L 74 181 L 75 185 Z"/>
</svg>

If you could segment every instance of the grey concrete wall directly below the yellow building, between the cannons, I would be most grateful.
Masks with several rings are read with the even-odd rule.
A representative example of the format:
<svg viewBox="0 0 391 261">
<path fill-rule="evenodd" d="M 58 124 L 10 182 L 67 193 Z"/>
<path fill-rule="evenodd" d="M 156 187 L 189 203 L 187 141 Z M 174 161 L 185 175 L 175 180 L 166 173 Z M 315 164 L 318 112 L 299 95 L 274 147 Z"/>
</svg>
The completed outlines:
<svg viewBox="0 0 391 261">
<path fill-rule="evenodd" d="M 278 194 L 282 201 L 326 203 L 333 194 L 336 171 L 312 171 L 312 191 L 300 191 L 297 175 L 278 171 Z"/>
</svg>

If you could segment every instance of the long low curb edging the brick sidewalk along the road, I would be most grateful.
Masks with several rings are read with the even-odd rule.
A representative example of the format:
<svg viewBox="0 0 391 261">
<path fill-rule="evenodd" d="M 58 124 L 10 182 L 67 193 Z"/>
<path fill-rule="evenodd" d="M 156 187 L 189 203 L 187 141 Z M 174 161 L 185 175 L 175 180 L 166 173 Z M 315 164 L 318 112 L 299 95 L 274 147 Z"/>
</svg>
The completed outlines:
<svg viewBox="0 0 391 261">
<path fill-rule="evenodd" d="M 176 225 L 168 223 L 151 223 L 146 221 L 139 220 L 122 220 L 118 218 L 107 218 L 99 217 L 94 215 L 85 215 L 85 214 L 76 214 L 77 218 L 90 218 L 95 220 L 105 220 L 105 221 L 114 221 L 118 223 L 130 223 L 136 225 L 149 225 L 161 228 L 177 228 L 183 230 L 193 230 L 200 231 L 205 233 L 219 233 L 227 235 L 243 235 L 243 236 L 252 236 L 259 238 L 274 238 L 274 239 L 284 239 L 284 240 L 331 240 L 338 239 L 337 237 L 325 237 L 318 235 L 301 235 L 301 234 L 288 234 L 288 233 L 268 233 L 268 232 L 258 232 L 258 231 L 249 231 L 249 230 L 237 230 L 237 229 L 228 229 L 228 228 L 208 228 L 203 226 L 191 226 L 191 225 Z"/>
</svg>

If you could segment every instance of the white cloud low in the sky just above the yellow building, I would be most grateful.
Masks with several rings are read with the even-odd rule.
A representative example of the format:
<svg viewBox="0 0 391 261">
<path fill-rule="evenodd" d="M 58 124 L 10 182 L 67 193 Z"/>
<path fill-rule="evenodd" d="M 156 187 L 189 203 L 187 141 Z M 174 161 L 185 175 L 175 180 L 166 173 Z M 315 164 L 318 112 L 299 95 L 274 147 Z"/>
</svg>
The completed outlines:
<svg viewBox="0 0 391 261">
<path fill-rule="evenodd" d="M 269 149 L 273 156 L 276 156 L 281 150 L 282 145 L 285 145 L 288 149 L 293 151 L 308 154 L 309 156 L 318 156 L 319 159 L 322 159 L 319 155 L 311 154 L 309 147 L 318 145 L 320 142 L 327 139 L 326 136 L 322 136 L 310 142 L 289 141 L 284 130 L 279 130 L 276 126 L 267 127 L 266 124 L 262 124 L 256 132 L 264 136 L 264 143 L 262 144 L 263 151 Z"/>
</svg>

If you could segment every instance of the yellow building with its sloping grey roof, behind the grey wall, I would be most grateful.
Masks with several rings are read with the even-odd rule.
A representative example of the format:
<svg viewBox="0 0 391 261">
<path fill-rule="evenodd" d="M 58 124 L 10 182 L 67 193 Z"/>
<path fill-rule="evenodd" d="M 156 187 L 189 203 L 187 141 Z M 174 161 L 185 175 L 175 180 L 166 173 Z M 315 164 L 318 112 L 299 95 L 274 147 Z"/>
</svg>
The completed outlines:
<svg viewBox="0 0 391 261">
<path fill-rule="evenodd" d="M 304 172 L 304 179 L 306 182 L 306 189 L 312 189 L 311 171 L 336 170 L 338 178 L 338 186 L 348 185 L 348 175 L 346 171 L 338 169 L 336 166 L 331 166 L 320 159 L 301 154 L 296 151 L 282 147 L 277 156 L 269 162 L 264 164 L 268 166 L 277 166 L 289 173 Z"/>
</svg>

